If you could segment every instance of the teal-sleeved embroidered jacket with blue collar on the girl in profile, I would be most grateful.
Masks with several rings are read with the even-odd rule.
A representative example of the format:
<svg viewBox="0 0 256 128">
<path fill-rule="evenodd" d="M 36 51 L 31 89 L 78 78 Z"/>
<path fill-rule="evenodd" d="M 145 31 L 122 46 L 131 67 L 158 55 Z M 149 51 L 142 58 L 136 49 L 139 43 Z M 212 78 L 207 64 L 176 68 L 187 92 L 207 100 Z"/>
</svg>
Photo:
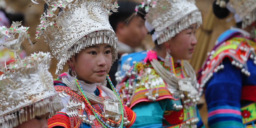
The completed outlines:
<svg viewBox="0 0 256 128">
<path fill-rule="evenodd" d="M 182 104 L 180 99 L 173 97 L 174 92 L 167 88 L 166 83 L 156 73 L 151 63 L 142 62 L 146 54 L 147 51 L 129 55 L 124 54 L 121 61 L 119 61 L 121 64 L 120 71 L 116 73 L 117 80 L 121 78 L 117 88 L 122 93 L 122 100 L 136 113 L 136 120 L 132 127 L 179 128 L 185 126 L 186 122 L 188 123 L 193 119 L 198 120 L 197 127 L 204 127 L 195 106 L 182 107 L 184 109 L 174 107 L 174 104 L 176 106 L 184 106 L 184 104 Z M 170 67 L 164 66 L 164 62 L 160 58 L 158 60 L 165 69 L 170 70 Z M 181 65 L 177 63 L 175 71 L 177 76 L 181 77 L 182 72 L 180 69 Z M 141 72 L 135 73 L 135 71 Z M 134 76 L 141 76 L 140 82 L 137 81 L 138 77 L 135 78 Z M 150 85 L 147 84 L 148 81 L 151 81 Z M 151 92 L 151 98 L 149 98 L 148 92 Z"/>
</svg>

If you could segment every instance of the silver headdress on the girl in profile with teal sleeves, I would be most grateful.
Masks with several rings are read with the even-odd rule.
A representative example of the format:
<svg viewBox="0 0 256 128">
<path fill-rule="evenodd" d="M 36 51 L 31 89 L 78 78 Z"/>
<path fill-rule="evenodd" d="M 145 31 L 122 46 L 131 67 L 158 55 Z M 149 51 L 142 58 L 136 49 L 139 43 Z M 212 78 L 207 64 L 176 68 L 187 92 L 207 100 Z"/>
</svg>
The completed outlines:
<svg viewBox="0 0 256 128">
<path fill-rule="evenodd" d="M 189 25 L 196 23 L 199 27 L 202 24 L 201 12 L 194 0 L 143 0 L 135 11 L 144 6 L 146 23 L 155 30 L 158 44 L 168 41 Z"/>
</svg>

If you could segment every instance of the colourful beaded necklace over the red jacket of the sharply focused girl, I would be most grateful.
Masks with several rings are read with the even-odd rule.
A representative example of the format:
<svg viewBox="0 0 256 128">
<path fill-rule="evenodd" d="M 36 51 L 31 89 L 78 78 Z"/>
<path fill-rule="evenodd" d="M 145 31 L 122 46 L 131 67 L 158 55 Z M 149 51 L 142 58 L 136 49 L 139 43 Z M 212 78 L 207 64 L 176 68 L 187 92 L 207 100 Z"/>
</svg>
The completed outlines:
<svg viewBox="0 0 256 128">
<path fill-rule="evenodd" d="M 109 84 L 111 85 L 112 90 L 115 92 L 116 97 L 119 98 L 120 104 L 122 104 L 122 107 L 121 107 L 121 116 L 120 116 L 120 119 L 119 119 L 118 122 L 114 122 L 113 120 L 110 120 L 108 117 L 105 117 L 105 119 L 106 119 L 107 121 L 104 122 L 103 119 L 102 119 L 102 118 L 104 118 L 104 116 L 103 116 L 102 114 L 100 114 L 96 109 L 94 109 L 94 107 L 91 105 L 91 103 L 90 103 L 89 100 L 87 99 L 86 95 L 84 94 L 83 89 L 82 89 L 82 86 L 81 86 L 81 84 L 79 83 L 79 81 L 78 81 L 77 78 L 76 78 L 76 84 L 77 84 L 78 89 L 79 89 L 80 92 L 81 92 L 81 95 L 83 96 L 83 100 L 85 101 L 85 103 L 88 104 L 88 106 L 90 107 L 90 109 L 91 109 L 92 112 L 94 113 L 94 116 L 95 116 L 96 119 L 100 122 L 100 124 L 101 124 L 102 126 L 104 126 L 105 128 L 114 128 L 114 127 L 112 127 L 112 126 L 109 125 L 110 122 L 111 122 L 111 123 L 115 123 L 115 124 L 121 123 L 121 125 L 118 127 L 118 128 L 121 128 L 121 127 L 123 127 L 123 110 L 124 110 L 124 104 L 123 104 L 123 102 L 122 102 L 122 100 L 121 100 L 121 97 L 120 97 L 119 93 L 116 91 L 115 86 L 113 85 L 113 83 L 112 83 L 112 81 L 111 81 L 109 75 L 107 75 L 107 79 L 108 79 L 108 81 L 109 81 Z M 109 122 L 108 122 L 108 121 L 109 121 Z"/>
</svg>

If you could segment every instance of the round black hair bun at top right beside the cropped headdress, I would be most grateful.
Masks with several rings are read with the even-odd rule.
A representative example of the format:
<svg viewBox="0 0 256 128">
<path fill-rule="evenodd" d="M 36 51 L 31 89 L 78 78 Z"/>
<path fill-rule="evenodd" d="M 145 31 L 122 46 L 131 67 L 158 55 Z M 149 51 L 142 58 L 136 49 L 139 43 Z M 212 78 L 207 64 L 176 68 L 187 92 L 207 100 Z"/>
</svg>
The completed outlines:
<svg viewBox="0 0 256 128">
<path fill-rule="evenodd" d="M 228 1 L 226 1 L 228 3 Z M 229 10 L 227 8 L 222 8 L 216 4 L 216 0 L 212 4 L 213 13 L 219 19 L 226 18 L 229 15 Z"/>
</svg>

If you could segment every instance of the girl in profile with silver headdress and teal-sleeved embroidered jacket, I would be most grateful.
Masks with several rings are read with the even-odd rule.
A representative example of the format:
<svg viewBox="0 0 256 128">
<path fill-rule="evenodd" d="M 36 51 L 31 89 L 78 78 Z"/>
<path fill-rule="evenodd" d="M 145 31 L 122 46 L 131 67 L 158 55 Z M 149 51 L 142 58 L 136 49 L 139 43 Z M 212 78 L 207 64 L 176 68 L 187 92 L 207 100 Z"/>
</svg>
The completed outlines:
<svg viewBox="0 0 256 128">
<path fill-rule="evenodd" d="M 121 98 L 137 115 L 132 127 L 204 127 L 195 71 L 186 61 L 197 44 L 201 13 L 190 0 L 143 1 L 138 7 L 144 6 L 155 50 L 122 56 L 116 73 L 123 78 Z"/>
</svg>

